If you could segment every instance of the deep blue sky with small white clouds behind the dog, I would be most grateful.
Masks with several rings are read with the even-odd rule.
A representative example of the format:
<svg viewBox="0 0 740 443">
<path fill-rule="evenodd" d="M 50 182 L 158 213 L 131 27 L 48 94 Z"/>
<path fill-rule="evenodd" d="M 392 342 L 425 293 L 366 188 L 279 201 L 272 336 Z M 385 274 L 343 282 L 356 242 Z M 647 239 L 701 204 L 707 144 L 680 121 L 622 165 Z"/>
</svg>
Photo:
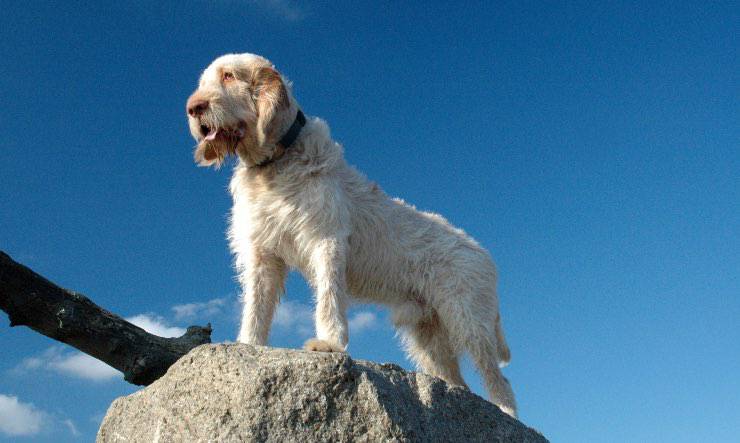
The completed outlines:
<svg viewBox="0 0 740 443">
<path fill-rule="evenodd" d="M 258 53 L 351 164 L 491 251 L 524 422 L 736 440 L 737 5 L 337 3 L 6 2 L 0 249 L 150 329 L 233 340 L 230 168 L 194 165 L 184 106 L 213 58 Z M 284 300 L 271 343 L 297 347 L 300 276 Z M 382 308 L 352 319 L 353 357 L 411 368 Z M 8 326 L 0 441 L 90 441 L 136 389 Z"/>
</svg>

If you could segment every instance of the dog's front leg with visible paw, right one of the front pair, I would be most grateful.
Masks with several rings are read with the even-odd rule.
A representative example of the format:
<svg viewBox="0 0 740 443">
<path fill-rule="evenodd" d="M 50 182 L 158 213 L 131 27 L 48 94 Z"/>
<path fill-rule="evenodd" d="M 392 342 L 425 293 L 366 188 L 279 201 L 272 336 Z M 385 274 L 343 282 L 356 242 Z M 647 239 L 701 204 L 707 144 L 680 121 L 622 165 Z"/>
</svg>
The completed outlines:
<svg viewBox="0 0 740 443">
<path fill-rule="evenodd" d="M 344 352 L 349 340 L 347 328 L 346 238 L 317 242 L 311 254 L 311 284 L 316 291 L 316 338 L 305 349 Z"/>
</svg>

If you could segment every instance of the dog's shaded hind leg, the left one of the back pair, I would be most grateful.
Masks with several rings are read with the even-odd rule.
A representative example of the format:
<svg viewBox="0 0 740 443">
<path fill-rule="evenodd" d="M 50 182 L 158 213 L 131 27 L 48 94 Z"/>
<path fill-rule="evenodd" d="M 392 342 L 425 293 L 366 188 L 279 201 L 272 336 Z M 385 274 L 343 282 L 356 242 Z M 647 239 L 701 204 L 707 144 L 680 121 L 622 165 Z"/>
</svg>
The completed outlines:
<svg viewBox="0 0 740 443">
<path fill-rule="evenodd" d="M 458 353 L 436 313 L 413 325 L 401 326 L 401 337 L 406 352 L 420 370 L 467 388 L 460 374 Z"/>
</svg>

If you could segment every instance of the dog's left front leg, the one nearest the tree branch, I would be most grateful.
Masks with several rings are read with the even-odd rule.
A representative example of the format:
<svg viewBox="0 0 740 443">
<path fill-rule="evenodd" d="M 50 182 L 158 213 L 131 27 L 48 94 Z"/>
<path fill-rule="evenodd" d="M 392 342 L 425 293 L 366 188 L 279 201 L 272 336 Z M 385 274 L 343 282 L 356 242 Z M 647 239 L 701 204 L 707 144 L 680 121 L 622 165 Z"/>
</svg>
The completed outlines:
<svg viewBox="0 0 740 443">
<path fill-rule="evenodd" d="M 248 248 L 237 251 L 242 285 L 242 324 L 237 341 L 266 345 L 275 308 L 284 291 L 287 267 L 274 254 Z"/>
</svg>

